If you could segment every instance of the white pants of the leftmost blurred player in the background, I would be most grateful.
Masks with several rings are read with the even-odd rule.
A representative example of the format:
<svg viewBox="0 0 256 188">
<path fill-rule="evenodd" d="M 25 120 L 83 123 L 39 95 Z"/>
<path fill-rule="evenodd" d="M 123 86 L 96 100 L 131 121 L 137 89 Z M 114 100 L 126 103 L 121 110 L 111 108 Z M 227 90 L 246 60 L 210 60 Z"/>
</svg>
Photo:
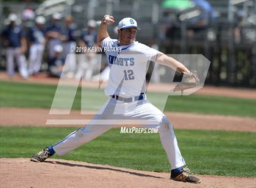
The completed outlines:
<svg viewBox="0 0 256 188">
<path fill-rule="evenodd" d="M 29 77 L 29 72 L 27 71 L 26 57 L 24 56 L 23 53 L 21 53 L 20 48 L 7 48 L 6 58 L 7 58 L 6 69 L 10 77 L 13 77 L 15 73 L 14 58 L 16 58 L 16 61 L 18 63 L 18 69 L 19 69 L 20 75 L 23 78 Z"/>
</svg>

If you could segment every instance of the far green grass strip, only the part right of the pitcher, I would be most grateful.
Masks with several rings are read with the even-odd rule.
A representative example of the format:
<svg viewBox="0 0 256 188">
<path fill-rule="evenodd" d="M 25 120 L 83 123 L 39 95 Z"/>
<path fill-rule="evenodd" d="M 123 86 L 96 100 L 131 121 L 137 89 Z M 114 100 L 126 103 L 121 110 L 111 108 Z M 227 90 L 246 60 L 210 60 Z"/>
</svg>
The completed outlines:
<svg viewBox="0 0 256 188">
<path fill-rule="evenodd" d="M 172 96 L 168 98 L 165 110 L 256 118 L 256 101 L 208 95 Z"/>
</svg>

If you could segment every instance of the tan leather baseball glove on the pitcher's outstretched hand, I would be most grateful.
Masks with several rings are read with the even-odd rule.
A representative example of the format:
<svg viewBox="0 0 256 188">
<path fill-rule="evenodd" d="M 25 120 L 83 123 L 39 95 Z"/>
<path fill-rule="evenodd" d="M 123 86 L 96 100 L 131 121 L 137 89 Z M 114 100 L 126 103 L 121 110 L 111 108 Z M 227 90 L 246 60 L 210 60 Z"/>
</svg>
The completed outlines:
<svg viewBox="0 0 256 188">
<path fill-rule="evenodd" d="M 183 79 L 182 82 L 177 84 L 177 86 L 172 89 L 172 92 L 181 92 L 181 95 L 183 95 L 183 91 L 187 89 L 194 88 L 198 86 L 199 84 L 199 77 L 195 72 L 190 73 L 183 73 Z"/>
</svg>

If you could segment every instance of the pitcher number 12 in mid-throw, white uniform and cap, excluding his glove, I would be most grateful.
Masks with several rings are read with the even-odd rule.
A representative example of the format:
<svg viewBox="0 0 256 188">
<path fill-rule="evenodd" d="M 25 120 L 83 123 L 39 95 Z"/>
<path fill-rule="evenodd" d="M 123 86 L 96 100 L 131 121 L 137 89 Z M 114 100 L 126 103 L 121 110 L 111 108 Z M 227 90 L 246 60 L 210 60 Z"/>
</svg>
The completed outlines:
<svg viewBox="0 0 256 188">
<path fill-rule="evenodd" d="M 110 65 L 108 86 L 105 95 L 107 102 L 83 129 L 70 133 L 53 146 L 45 147 L 32 156 L 31 161 L 42 162 L 49 156 L 65 155 L 82 144 L 111 129 L 112 119 L 122 121 L 137 120 L 140 126 L 158 129 L 160 139 L 171 164 L 171 180 L 200 183 L 185 166 L 171 121 L 146 99 L 146 66 L 148 61 L 171 67 L 179 72 L 190 74 L 190 71 L 179 61 L 166 56 L 158 50 L 135 41 L 138 29 L 137 21 L 124 18 L 118 24 L 118 39 L 111 39 L 107 27 L 115 22 L 113 16 L 105 15 L 98 30 L 98 44 L 104 47 Z M 121 50 L 111 50 L 118 49 Z M 104 119 L 106 124 L 99 124 Z M 114 122 L 114 121 L 113 121 Z M 146 123 L 145 123 L 146 122 Z"/>
</svg>

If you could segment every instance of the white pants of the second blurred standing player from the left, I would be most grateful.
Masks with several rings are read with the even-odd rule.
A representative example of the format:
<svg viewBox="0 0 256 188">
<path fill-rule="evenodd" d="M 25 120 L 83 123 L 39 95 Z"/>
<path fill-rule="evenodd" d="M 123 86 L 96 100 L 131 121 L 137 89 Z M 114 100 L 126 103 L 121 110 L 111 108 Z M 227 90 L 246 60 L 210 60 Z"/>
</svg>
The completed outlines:
<svg viewBox="0 0 256 188">
<path fill-rule="evenodd" d="M 38 73 L 41 69 L 44 45 L 32 44 L 29 50 L 29 75 Z"/>
</svg>

